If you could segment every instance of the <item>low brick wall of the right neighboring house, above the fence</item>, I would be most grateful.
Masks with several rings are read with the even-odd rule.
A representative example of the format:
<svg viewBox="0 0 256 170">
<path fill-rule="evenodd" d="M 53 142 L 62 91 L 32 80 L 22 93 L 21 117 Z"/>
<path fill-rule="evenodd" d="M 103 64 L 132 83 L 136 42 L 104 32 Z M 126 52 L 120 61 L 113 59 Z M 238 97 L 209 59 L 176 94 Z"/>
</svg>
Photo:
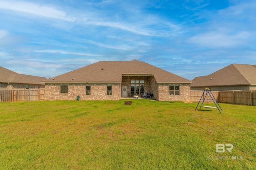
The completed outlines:
<svg viewBox="0 0 256 170">
<path fill-rule="evenodd" d="M 252 89 L 256 90 L 255 87 L 251 86 L 209 86 L 210 90 L 212 91 L 236 91 L 236 90 L 243 90 L 243 91 L 249 91 Z M 205 87 L 191 87 L 191 90 L 204 90 Z"/>
</svg>

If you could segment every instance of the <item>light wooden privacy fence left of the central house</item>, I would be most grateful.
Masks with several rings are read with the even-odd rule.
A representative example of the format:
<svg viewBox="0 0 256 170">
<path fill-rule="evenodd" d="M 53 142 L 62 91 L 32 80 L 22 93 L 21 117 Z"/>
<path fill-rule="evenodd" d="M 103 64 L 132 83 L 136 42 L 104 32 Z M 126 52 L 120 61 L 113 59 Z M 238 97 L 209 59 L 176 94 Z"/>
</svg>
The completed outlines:
<svg viewBox="0 0 256 170">
<path fill-rule="evenodd" d="M 41 101 L 44 100 L 44 89 L 35 90 L 0 90 L 0 102 Z"/>
</svg>

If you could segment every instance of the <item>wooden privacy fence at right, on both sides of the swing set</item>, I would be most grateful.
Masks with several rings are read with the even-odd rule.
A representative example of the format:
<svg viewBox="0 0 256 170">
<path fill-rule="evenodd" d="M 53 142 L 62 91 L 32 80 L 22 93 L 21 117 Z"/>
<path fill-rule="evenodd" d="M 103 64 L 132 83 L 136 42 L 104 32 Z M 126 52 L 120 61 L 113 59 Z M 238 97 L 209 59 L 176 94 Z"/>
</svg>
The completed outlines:
<svg viewBox="0 0 256 170">
<path fill-rule="evenodd" d="M 199 102 L 204 91 L 191 90 L 191 102 Z M 256 91 L 212 91 L 217 102 L 256 106 Z"/>
</svg>

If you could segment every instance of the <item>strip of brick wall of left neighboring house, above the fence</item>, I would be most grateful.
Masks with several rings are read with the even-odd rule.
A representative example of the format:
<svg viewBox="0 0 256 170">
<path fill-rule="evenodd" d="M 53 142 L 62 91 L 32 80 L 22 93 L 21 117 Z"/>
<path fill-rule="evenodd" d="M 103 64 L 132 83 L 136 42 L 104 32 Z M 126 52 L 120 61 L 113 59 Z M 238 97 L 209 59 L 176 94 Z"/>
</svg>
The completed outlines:
<svg viewBox="0 0 256 170">
<path fill-rule="evenodd" d="M 26 89 L 26 85 L 29 85 L 29 88 Z M 1 83 L 1 89 L 12 89 L 12 90 L 32 90 L 44 88 L 42 84 L 19 84 L 19 83 Z"/>
</svg>

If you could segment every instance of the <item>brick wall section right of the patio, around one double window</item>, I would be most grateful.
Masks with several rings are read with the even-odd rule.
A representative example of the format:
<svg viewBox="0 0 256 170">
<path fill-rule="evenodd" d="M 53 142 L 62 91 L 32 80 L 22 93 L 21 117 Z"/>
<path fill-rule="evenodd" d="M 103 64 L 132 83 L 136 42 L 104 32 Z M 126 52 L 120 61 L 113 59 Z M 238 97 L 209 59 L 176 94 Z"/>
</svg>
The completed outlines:
<svg viewBox="0 0 256 170">
<path fill-rule="evenodd" d="M 170 85 L 180 85 L 180 95 L 170 95 Z M 158 84 L 158 93 L 159 101 L 190 102 L 190 84 Z"/>
</svg>

